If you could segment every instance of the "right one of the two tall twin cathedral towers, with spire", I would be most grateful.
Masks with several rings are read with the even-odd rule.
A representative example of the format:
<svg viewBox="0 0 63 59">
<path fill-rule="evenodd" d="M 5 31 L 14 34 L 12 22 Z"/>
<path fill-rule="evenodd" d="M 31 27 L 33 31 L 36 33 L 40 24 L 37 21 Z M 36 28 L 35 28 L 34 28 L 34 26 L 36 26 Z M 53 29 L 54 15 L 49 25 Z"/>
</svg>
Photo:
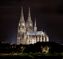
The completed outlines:
<svg viewBox="0 0 63 59">
<path fill-rule="evenodd" d="M 28 31 L 28 32 L 33 31 L 33 22 L 31 20 L 30 8 L 29 8 L 29 12 L 28 12 L 28 19 L 26 21 L 26 31 Z"/>
</svg>

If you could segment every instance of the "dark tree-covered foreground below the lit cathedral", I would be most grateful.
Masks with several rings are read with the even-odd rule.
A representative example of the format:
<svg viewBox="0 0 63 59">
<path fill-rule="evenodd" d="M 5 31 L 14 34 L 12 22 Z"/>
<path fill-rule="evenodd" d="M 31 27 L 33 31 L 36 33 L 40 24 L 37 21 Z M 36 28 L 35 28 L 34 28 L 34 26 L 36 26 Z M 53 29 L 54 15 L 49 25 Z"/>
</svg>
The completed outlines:
<svg viewBox="0 0 63 59">
<path fill-rule="evenodd" d="M 49 47 L 47 54 L 42 53 L 41 47 Z M 21 58 L 21 59 L 63 59 L 63 45 L 54 42 L 36 43 L 34 45 L 9 45 L 0 44 L 0 57 L 2 58 Z"/>
</svg>

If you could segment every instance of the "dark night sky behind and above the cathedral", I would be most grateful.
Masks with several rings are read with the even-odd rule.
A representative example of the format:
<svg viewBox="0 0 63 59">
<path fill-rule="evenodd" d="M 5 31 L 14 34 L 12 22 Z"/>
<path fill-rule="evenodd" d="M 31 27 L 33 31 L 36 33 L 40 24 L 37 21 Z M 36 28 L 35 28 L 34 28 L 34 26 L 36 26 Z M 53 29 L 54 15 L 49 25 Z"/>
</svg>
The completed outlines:
<svg viewBox="0 0 63 59">
<path fill-rule="evenodd" d="M 25 20 L 30 7 L 32 20 L 37 19 L 38 30 L 48 34 L 50 41 L 63 43 L 63 0 L 1 0 L 0 41 L 16 42 L 21 6 Z"/>
</svg>

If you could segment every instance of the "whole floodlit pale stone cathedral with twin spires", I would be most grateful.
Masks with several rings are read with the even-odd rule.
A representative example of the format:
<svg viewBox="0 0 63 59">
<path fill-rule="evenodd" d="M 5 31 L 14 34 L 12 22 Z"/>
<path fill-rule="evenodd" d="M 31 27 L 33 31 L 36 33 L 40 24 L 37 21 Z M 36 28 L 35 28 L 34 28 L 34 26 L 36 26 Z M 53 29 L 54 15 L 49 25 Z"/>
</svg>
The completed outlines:
<svg viewBox="0 0 63 59">
<path fill-rule="evenodd" d="M 28 18 L 25 22 L 23 8 L 21 8 L 21 16 L 18 24 L 18 32 L 17 32 L 17 45 L 29 45 L 35 44 L 37 42 L 49 42 L 49 37 L 43 31 L 37 31 L 36 18 L 33 25 L 33 21 L 31 19 L 30 8 L 28 10 Z"/>
</svg>

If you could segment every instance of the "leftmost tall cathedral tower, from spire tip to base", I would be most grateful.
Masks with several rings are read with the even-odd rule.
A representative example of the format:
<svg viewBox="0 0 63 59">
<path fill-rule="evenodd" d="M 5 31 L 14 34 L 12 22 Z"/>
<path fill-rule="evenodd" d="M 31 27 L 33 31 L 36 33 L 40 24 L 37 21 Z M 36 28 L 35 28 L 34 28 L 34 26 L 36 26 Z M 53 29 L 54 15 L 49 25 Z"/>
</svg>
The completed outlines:
<svg viewBox="0 0 63 59">
<path fill-rule="evenodd" d="M 26 32 L 25 20 L 23 15 L 23 8 L 21 7 L 21 16 L 18 24 L 17 44 L 21 43 L 22 36 L 24 36 L 25 32 Z"/>
</svg>

